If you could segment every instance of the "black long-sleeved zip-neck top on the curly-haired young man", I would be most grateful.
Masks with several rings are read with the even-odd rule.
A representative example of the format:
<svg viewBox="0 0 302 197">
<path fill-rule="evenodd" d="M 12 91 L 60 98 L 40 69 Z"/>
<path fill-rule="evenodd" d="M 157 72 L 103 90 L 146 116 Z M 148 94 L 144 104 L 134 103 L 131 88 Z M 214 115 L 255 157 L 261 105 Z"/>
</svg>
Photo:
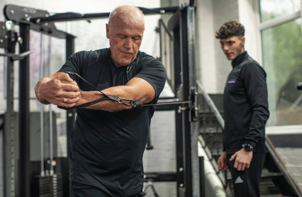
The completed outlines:
<svg viewBox="0 0 302 197">
<path fill-rule="evenodd" d="M 224 144 L 227 154 L 250 144 L 265 152 L 265 123 L 269 117 L 266 73 L 245 51 L 232 61 L 224 88 Z"/>
</svg>

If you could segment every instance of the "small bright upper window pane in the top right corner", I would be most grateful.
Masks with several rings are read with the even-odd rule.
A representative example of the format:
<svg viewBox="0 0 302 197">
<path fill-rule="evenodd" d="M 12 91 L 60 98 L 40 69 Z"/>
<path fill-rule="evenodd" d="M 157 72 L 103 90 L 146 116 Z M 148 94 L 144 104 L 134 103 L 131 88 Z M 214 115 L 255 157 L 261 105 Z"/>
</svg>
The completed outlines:
<svg viewBox="0 0 302 197">
<path fill-rule="evenodd" d="M 300 0 L 260 0 L 261 22 L 301 10 Z"/>
</svg>

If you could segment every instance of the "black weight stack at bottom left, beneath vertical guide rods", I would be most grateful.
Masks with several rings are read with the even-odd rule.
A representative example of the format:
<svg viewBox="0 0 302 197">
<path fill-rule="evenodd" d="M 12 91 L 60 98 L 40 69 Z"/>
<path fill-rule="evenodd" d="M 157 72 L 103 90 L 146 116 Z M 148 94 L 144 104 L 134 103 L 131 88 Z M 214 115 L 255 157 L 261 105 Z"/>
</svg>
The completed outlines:
<svg viewBox="0 0 302 197">
<path fill-rule="evenodd" d="M 61 174 L 33 176 L 31 197 L 63 197 L 63 176 Z"/>
</svg>

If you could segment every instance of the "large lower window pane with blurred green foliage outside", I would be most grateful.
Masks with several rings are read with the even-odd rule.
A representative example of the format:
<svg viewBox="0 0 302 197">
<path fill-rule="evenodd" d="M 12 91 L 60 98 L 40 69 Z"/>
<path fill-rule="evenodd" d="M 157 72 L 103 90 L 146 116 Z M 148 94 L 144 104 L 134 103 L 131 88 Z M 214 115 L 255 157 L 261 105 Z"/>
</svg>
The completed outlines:
<svg viewBox="0 0 302 197">
<path fill-rule="evenodd" d="M 301 19 L 262 31 L 270 118 L 267 126 L 302 124 Z"/>
</svg>

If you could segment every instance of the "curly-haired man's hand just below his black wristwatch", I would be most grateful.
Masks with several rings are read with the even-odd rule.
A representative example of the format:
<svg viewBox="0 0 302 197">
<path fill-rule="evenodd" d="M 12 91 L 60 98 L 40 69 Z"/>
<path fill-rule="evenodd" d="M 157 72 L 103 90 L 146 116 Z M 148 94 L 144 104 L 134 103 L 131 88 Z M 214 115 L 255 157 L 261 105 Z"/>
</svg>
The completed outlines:
<svg viewBox="0 0 302 197">
<path fill-rule="evenodd" d="M 231 156 L 230 161 L 233 161 L 235 159 L 234 168 L 240 171 L 250 167 L 252 158 L 253 151 L 247 152 L 244 149 L 241 149 Z"/>
</svg>

